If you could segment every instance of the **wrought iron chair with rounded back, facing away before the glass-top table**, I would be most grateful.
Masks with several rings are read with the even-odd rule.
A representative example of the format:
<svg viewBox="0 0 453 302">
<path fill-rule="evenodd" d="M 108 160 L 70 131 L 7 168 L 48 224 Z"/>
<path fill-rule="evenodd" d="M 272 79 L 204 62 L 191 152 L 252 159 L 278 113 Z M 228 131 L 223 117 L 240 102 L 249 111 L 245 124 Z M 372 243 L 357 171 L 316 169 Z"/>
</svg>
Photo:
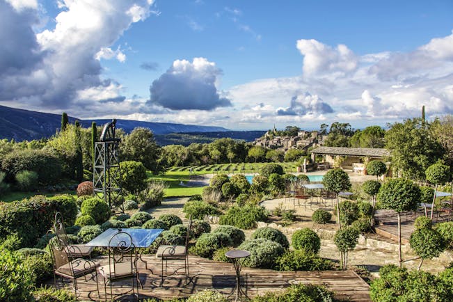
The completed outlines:
<svg viewBox="0 0 453 302">
<path fill-rule="evenodd" d="M 110 285 L 110 296 L 113 300 L 112 283 L 115 281 L 132 279 L 132 294 L 134 295 L 134 280 L 136 281 L 136 297 L 138 300 L 138 256 L 132 243 L 132 237 L 127 232 L 118 232 L 109 240 L 109 264 L 99 268 L 104 277 L 104 293 L 107 300 L 107 283 Z M 131 292 L 116 294 L 120 296 Z"/>
</svg>

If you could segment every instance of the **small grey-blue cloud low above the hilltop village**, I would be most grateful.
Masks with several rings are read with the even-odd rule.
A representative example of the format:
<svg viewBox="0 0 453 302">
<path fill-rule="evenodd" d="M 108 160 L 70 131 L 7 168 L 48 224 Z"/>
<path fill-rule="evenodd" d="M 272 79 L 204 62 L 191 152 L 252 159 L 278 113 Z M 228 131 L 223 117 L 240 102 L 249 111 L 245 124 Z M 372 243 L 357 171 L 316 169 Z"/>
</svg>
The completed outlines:
<svg viewBox="0 0 453 302">
<path fill-rule="evenodd" d="M 285 109 L 278 109 L 278 116 L 305 116 L 333 113 L 332 107 L 323 102 L 317 95 L 295 95 L 291 99 L 291 104 Z"/>
</svg>

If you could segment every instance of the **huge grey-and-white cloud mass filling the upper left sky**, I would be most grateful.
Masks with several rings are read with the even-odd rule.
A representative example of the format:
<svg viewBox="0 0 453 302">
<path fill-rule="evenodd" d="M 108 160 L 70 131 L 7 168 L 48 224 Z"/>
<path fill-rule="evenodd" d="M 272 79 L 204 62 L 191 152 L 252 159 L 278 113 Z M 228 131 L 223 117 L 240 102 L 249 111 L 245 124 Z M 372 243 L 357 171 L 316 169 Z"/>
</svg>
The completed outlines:
<svg viewBox="0 0 453 302">
<path fill-rule="evenodd" d="M 35 34 L 33 5 L 13 7 L 0 0 L 0 37 L 8 41 L 6 50 L 0 50 L 5 51 L 0 53 L 0 101 L 46 110 L 84 105 L 81 92 L 104 90 L 113 83 L 101 79 L 100 58 L 125 60 L 119 48 L 109 47 L 132 23 L 148 17 L 152 5 L 150 0 L 58 3 L 62 11 L 54 29 Z M 27 9 L 19 9 L 23 7 Z"/>
</svg>

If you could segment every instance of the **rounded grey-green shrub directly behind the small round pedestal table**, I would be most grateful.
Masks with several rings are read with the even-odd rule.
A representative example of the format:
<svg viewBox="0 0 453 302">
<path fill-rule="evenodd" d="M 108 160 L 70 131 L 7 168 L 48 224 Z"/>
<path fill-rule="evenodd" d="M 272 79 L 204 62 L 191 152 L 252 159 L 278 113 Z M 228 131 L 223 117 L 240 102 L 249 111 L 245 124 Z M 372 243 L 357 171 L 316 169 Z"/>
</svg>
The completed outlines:
<svg viewBox="0 0 453 302">
<path fill-rule="evenodd" d="M 281 244 L 264 238 L 246 240 L 238 248 L 251 253 L 244 259 L 244 266 L 262 269 L 272 269 L 276 259 L 285 253 Z"/>
</svg>

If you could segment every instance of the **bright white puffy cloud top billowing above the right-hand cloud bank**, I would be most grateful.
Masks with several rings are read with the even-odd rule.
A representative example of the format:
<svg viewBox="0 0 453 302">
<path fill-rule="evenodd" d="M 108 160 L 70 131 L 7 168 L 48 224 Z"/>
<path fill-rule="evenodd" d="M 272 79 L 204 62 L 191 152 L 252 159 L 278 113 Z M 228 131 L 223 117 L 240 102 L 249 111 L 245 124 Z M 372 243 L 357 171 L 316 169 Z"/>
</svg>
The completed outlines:
<svg viewBox="0 0 453 302">
<path fill-rule="evenodd" d="M 327 72 L 348 73 L 356 70 L 358 58 L 346 45 L 334 49 L 317 40 L 301 39 L 296 42 L 303 58 L 303 73 L 306 75 Z"/>
</svg>

